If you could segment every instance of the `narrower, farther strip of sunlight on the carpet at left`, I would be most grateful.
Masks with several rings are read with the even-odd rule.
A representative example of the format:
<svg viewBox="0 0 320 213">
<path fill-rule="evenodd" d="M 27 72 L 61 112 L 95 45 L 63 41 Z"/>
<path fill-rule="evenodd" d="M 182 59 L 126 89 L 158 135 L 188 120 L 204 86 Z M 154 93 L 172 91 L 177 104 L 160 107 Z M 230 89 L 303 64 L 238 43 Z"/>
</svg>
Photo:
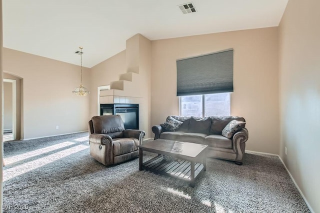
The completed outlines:
<svg viewBox="0 0 320 213">
<path fill-rule="evenodd" d="M 20 160 L 24 160 L 24 159 L 29 158 L 29 157 L 34 157 L 36 155 L 40 155 L 40 154 L 43 154 L 43 153 L 46 153 L 46 152 L 49 152 L 49 151 L 53 151 L 55 149 L 59 149 L 59 148 L 62 148 L 62 147 L 68 146 L 68 145 L 73 145 L 73 144 L 75 144 L 75 143 L 74 142 L 70 142 L 70 141 L 61 142 L 61 143 L 58 143 L 58 144 L 55 144 L 55 145 L 50 145 L 50 146 L 47 146 L 47 147 L 44 147 L 44 148 L 39 148 L 39 149 L 36 149 L 36 150 L 33 150 L 33 151 L 28 151 L 28 152 L 25 152 L 23 154 L 14 155 L 14 156 L 11 156 L 11 157 L 6 157 L 6 158 L 4 158 L 4 162 L 5 162 L 6 165 L 8 165 L 8 164 L 11 164 L 11 163 L 14 163 L 14 162 L 18 162 Z"/>
</svg>

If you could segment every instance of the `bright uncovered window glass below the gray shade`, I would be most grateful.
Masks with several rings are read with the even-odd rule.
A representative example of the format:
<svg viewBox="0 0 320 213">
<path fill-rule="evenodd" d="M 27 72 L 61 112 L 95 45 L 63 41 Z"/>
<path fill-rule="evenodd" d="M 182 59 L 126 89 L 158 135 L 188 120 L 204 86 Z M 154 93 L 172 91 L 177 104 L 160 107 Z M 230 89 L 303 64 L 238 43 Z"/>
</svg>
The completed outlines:
<svg viewBox="0 0 320 213">
<path fill-rule="evenodd" d="M 180 96 L 181 116 L 228 116 L 230 92 Z"/>
</svg>

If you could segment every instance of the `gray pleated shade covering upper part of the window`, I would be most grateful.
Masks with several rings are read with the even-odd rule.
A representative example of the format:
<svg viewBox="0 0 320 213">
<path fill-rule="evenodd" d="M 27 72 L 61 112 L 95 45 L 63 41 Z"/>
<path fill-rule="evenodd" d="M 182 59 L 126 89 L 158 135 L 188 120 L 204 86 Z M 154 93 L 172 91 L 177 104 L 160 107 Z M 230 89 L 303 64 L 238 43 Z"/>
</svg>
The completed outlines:
<svg viewBox="0 0 320 213">
<path fill-rule="evenodd" d="M 176 60 L 176 95 L 233 91 L 233 49 Z"/>
</svg>

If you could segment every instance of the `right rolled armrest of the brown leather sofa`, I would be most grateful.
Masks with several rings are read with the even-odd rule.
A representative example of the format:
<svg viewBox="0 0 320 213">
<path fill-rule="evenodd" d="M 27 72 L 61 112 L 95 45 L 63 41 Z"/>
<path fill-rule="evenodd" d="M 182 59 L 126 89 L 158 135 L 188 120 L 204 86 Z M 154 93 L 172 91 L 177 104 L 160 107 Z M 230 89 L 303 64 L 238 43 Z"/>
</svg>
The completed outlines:
<svg viewBox="0 0 320 213">
<path fill-rule="evenodd" d="M 248 130 L 242 128 L 241 130 L 234 133 L 232 137 L 232 148 L 236 153 L 235 162 L 242 164 L 242 158 L 245 150 L 245 142 L 248 139 Z"/>
</svg>

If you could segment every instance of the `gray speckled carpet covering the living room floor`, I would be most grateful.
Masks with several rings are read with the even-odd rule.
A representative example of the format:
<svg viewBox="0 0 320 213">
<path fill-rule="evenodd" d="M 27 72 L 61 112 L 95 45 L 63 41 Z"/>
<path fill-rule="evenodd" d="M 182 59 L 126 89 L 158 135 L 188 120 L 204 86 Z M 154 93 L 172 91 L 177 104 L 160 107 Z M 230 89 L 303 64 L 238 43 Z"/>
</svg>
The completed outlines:
<svg viewBox="0 0 320 213">
<path fill-rule="evenodd" d="M 100 164 L 87 132 L 4 142 L 4 162 L 3 212 L 310 212 L 271 155 L 245 153 L 240 166 L 208 158 L 194 188 L 139 171 L 137 158 Z"/>
</svg>

